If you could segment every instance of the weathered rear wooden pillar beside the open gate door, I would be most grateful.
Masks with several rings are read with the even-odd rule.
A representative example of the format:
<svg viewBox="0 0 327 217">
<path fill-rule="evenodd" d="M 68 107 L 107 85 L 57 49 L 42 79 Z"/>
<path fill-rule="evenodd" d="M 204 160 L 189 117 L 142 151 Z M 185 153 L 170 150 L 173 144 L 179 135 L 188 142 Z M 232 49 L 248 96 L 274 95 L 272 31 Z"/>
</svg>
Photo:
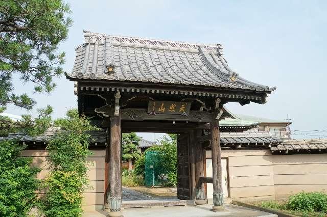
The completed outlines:
<svg viewBox="0 0 327 217">
<path fill-rule="evenodd" d="M 195 203 L 200 204 L 206 204 L 205 194 L 204 194 L 204 184 L 200 183 L 200 177 L 204 177 L 204 164 L 203 164 L 203 158 L 204 158 L 204 152 L 202 144 L 199 141 L 199 138 L 201 137 L 202 130 L 197 129 L 194 131 L 194 138 L 195 138 L 195 182 L 196 182 L 196 200 Z"/>
</svg>

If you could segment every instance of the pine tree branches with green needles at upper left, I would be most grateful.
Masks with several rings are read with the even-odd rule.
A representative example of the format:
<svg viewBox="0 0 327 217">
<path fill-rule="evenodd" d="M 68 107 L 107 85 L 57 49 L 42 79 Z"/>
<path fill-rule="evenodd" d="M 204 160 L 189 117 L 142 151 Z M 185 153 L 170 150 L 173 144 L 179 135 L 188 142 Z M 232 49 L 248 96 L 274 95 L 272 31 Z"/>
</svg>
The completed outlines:
<svg viewBox="0 0 327 217">
<path fill-rule="evenodd" d="M 9 103 L 30 110 L 35 101 L 13 93 L 12 77 L 34 83 L 36 92 L 55 88 L 65 57 L 57 49 L 72 25 L 71 10 L 62 0 L 2 0 L 0 11 L 0 112 Z"/>
</svg>

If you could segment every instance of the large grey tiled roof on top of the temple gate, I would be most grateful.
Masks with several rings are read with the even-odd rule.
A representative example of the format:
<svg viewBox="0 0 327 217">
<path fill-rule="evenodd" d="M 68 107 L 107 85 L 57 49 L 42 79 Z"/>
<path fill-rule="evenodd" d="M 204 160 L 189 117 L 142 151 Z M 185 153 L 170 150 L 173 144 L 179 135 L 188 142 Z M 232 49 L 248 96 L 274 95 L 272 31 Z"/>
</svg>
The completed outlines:
<svg viewBox="0 0 327 217">
<path fill-rule="evenodd" d="M 76 48 L 71 79 L 130 80 L 138 82 L 212 86 L 270 92 L 232 71 L 221 44 L 192 44 L 84 31 Z M 114 68 L 112 72 L 108 67 Z"/>
</svg>

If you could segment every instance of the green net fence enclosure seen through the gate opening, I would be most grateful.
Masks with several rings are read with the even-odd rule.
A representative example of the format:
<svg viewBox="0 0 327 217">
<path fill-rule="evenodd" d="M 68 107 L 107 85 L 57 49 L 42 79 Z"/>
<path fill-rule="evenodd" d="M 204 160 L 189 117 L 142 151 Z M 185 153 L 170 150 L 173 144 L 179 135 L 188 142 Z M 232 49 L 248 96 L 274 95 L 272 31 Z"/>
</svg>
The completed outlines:
<svg viewBox="0 0 327 217">
<path fill-rule="evenodd" d="M 150 151 L 145 154 L 145 185 L 155 186 L 161 184 L 158 177 L 159 158 L 161 152 Z"/>
</svg>

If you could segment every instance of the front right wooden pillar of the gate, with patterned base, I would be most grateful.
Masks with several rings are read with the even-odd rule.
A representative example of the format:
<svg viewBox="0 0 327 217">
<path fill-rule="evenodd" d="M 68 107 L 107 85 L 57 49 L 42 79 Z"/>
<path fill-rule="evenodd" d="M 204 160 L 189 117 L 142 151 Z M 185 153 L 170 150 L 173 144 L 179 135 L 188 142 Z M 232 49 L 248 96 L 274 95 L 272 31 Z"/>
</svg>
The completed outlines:
<svg viewBox="0 0 327 217">
<path fill-rule="evenodd" d="M 214 119 L 211 122 L 211 155 L 213 165 L 213 185 L 214 185 L 214 207 L 213 210 L 223 210 L 224 197 L 221 174 L 221 150 L 219 120 Z"/>
</svg>

